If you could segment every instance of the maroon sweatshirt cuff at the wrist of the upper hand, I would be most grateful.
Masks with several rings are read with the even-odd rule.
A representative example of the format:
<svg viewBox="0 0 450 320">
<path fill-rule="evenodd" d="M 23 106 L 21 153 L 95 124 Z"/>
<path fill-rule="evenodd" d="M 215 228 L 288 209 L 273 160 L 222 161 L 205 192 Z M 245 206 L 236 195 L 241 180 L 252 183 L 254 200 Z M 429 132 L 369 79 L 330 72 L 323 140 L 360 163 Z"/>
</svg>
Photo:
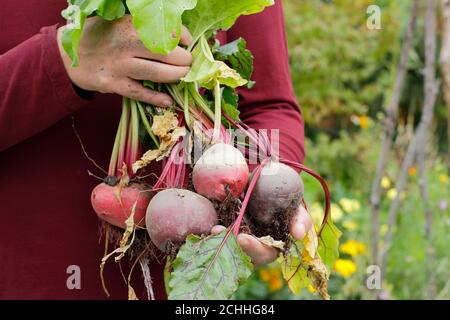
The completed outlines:
<svg viewBox="0 0 450 320">
<path fill-rule="evenodd" d="M 62 106 L 73 112 L 87 105 L 94 97 L 94 93 L 83 90 L 83 94 L 80 95 L 70 80 L 56 40 L 58 27 L 56 24 L 40 30 L 43 37 L 41 42 L 43 59 L 56 98 Z"/>
</svg>

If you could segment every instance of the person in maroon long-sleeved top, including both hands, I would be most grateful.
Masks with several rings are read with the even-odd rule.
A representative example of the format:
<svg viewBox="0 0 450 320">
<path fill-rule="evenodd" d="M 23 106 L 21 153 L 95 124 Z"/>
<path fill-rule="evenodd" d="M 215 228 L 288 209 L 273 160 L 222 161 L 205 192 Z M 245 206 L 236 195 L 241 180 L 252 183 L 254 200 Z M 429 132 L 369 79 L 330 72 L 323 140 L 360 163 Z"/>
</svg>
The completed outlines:
<svg viewBox="0 0 450 320">
<path fill-rule="evenodd" d="M 64 1 L 3 1 L 0 12 L 0 298 L 104 299 L 99 263 L 98 219 L 90 192 L 102 175 L 86 158 L 106 167 L 120 114 L 121 95 L 158 106 L 170 96 L 139 80 L 175 82 L 192 57 L 183 45 L 167 56 L 148 51 L 130 17 L 114 22 L 88 18 L 79 66 L 61 47 Z M 44 26 L 44 27 L 43 27 Z M 239 18 L 223 32 L 223 43 L 243 37 L 255 56 L 252 90 L 240 90 L 241 118 L 250 127 L 280 129 L 282 157 L 302 162 L 304 128 L 291 85 L 281 1 L 264 12 Z M 74 129 L 76 129 L 76 133 Z M 159 164 L 152 168 L 160 170 Z M 305 210 L 291 233 L 301 237 Z M 215 227 L 215 232 L 221 227 Z M 255 264 L 272 261 L 276 250 L 241 234 L 239 244 Z M 123 263 L 126 273 L 129 265 Z M 71 284 L 77 272 L 78 282 Z M 164 298 L 162 267 L 151 268 L 157 298 Z M 142 279 L 132 283 L 144 296 Z M 115 263 L 105 267 L 113 299 L 127 297 Z"/>
</svg>

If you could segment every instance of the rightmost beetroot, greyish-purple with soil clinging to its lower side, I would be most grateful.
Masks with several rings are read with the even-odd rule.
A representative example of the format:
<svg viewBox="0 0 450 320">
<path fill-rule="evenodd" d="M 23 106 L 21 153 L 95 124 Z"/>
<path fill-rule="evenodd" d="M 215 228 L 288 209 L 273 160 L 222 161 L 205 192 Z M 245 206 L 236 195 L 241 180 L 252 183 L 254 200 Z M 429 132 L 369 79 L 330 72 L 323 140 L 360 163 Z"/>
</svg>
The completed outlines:
<svg viewBox="0 0 450 320">
<path fill-rule="evenodd" d="M 261 224 L 270 224 L 276 214 L 298 208 L 304 186 L 291 167 L 270 161 L 261 171 L 248 202 L 247 210 Z"/>
</svg>

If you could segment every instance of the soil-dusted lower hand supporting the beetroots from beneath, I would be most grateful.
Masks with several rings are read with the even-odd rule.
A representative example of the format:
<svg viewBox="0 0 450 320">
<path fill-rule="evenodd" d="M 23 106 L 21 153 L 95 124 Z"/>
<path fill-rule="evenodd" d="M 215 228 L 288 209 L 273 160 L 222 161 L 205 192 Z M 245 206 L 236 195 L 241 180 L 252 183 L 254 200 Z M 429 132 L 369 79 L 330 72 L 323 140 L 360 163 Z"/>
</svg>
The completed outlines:
<svg viewBox="0 0 450 320">
<path fill-rule="evenodd" d="M 306 232 L 313 228 L 313 222 L 308 212 L 300 206 L 300 210 L 291 221 L 291 235 L 301 240 L 306 235 Z M 215 226 L 212 228 L 212 234 L 218 234 L 225 230 L 224 226 Z M 274 261 L 278 256 L 277 249 L 262 244 L 258 239 L 252 235 L 241 233 L 237 237 L 237 242 L 242 250 L 250 256 L 255 266 L 263 265 Z"/>
</svg>

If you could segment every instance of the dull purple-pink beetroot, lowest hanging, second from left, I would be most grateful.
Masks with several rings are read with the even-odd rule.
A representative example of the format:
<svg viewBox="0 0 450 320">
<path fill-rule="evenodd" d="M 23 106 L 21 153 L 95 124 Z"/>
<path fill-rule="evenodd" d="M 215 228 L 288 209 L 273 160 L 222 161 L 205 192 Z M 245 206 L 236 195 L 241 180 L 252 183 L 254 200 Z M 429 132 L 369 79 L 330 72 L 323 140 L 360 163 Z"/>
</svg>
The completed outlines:
<svg viewBox="0 0 450 320">
<path fill-rule="evenodd" d="M 217 222 L 212 203 L 185 189 L 163 190 L 147 208 L 147 231 L 161 251 L 166 251 L 169 241 L 182 243 L 189 234 L 208 234 Z"/>
</svg>

